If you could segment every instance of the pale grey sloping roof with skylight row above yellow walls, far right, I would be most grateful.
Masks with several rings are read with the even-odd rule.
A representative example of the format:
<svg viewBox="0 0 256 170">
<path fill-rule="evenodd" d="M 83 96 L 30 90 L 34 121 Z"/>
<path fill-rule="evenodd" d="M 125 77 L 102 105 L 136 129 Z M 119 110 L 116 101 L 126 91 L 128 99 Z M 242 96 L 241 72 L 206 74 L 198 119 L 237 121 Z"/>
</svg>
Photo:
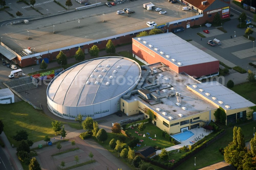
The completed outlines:
<svg viewBox="0 0 256 170">
<path fill-rule="evenodd" d="M 223 86 L 217 81 L 196 84 L 197 88 L 194 88 L 193 85 L 188 86 L 197 93 L 199 93 L 201 96 L 208 98 L 209 100 L 211 100 L 211 102 L 218 104 L 225 110 L 255 106 L 254 103 L 243 98 L 239 94 Z M 204 91 L 201 92 L 199 89 L 203 89 Z M 205 93 L 209 93 L 210 95 L 206 95 Z M 215 99 L 214 97 L 217 99 Z M 214 98 L 215 100 L 212 98 Z M 219 101 L 222 101 L 223 104 L 220 104 Z M 230 108 L 225 107 L 226 105 L 230 106 Z"/>
</svg>

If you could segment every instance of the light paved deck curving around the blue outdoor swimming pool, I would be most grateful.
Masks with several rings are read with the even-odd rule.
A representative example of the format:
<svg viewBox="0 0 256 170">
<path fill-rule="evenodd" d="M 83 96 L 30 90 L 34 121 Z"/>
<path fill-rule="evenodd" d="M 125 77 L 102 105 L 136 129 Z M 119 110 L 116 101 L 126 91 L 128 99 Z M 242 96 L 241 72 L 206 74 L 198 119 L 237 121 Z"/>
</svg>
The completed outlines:
<svg viewBox="0 0 256 170">
<path fill-rule="evenodd" d="M 205 136 L 209 135 L 210 134 L 210 131 L 207 130 L 207 133 L 206 133 L 206 130 L 204 131 L 204 128 L 200 127 L 200 128 L 194 128 L 194 129 L 190 129 L 192 132 L 194 132 L 196 135 L 190 137 L 189 139 L 181 142 L 181 144 L 178 144 L 178 145 L 175 145 L 175 146 L 172 146 L 172 147 L 169 147 L 169 148 L 165 148 L 166 151 L 172 151 L 172 150 L 175 150 L 175 149 L 179 149 L 179 148 L 182 148 L 184 145 L 191 145 L 191 143 L 189 143 L 189 141 L 194 141 L 194 138 L 196 137 L 200 137 L 200 134 L 204 134 L 204 136 L 202 138 L 204 138 Z M 160 154 L 162 151 L 161 150 L 157 150 L 156 151 L 156 155 Z"/>
</svg>

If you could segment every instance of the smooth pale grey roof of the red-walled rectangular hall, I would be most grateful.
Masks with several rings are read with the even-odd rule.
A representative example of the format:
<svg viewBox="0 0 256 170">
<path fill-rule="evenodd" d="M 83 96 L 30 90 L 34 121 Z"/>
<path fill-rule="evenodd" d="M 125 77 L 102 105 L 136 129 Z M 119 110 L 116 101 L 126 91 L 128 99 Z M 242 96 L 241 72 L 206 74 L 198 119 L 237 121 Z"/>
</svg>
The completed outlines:
<svg viewBox="0 0 256 170">
<path fill-rule="evenodd" d="M 142 40 L 138 40 L 138 38 L 141 38 Z M 178 67 L 217 61 L 216 58 L 200 50 L 186 40 L 183 40 L 172 32 L 136 37 L 133 38 L 133 40 L 151 49 Z M 143 41 L 146 41 L 147 44 L 143 43 Z M 153 45 L 154 47 L 151 48 L 149 45 Z M 154 48 L 158 48 L 159 51 L 154 50 Z M 165 54 L 163 55 L 160 52 L 164 52 Z M 169 55 L 170 58 L 167 58 L 166 55 Z M 176 59 L 177 61 L 174 62 L 172 59 Z M 177 64 L 178 62 L 181 62 L 183 65 Z"/>
</svg>

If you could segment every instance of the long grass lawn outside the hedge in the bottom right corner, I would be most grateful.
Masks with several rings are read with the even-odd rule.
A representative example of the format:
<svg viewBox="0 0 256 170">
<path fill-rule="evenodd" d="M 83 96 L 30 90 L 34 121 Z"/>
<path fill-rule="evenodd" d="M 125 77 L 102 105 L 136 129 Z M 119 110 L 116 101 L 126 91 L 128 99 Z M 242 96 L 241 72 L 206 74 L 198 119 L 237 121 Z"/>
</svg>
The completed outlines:
<svg viewBox="0 0 256 170">
<path fill-rule="evenodd" d="M 223 155 L 219 152 L 219 148 L 224 148 L 229 142 L 233 140 L 233 126 L 225 127 L 226 134 L 222 138 L 216 140 L 214 143 L 210 144 L 205 149 L 199 151 L 191 158 L 186 161 L 186 164 L 181 164 L 176 169 L 189 170 L 195 169 L 194 161 L 196 157 L 196 169 L 203 168 L 224 160 Z M 247 123 L 239 123 L 236 126 L 241 127 L 244 133 L 244 139 L 249 141 L 253 137 L 253 127 L 255 127 L 255 122 L 249 120 Z"/>
</svg>

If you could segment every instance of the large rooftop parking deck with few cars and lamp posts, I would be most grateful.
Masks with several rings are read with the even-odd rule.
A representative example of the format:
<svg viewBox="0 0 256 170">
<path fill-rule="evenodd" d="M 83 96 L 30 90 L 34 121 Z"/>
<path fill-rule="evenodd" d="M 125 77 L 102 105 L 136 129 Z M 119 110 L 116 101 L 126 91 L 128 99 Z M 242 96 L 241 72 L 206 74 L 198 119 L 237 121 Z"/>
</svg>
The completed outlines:
<svg viewBox="0 0 256 170">
<path fill-rule="evenodd" d="M 7 24 L 1 27 L 0 30 L 1 37 L 3 37 L 2 42 L 17 53 L 27 47 L 31 47 L 36 53 L 40 53 L 48 49 L 69 48 L 70 45 L 89 43 L 92 40 L 129 31 L 135 32 L 135 30 L 146 28 L 147 21 L 155 21 L 157 24 L 162 24 L 196 16 L 196 13 L 192 10 L 182 11 L 184 5 L 179 3 L 171 4 L 166 0 L 151 2 L 155 5 L 155 8 L 160 7 L 162 10 L 167 11 L 167 14 L 161 15 L 159 11 L 144 9 L 143 4 L 147 3 L 147 1 L 130 1 L 111 8 L 104 5 L 33 20 L 28 25 L 24 23 L 17 25 Z M 130 8 L 135 13 L 130 14 L 130 17 L 127 17 L 127 14 L 117 15 L 116 11 L 123 8 Z M 79 22 L 78 19 L 80 20 Z M 106 22 L 102 22 L 103 20 Z M 28 37 L 29 39 L 27 39 Z"/>
</svg>

